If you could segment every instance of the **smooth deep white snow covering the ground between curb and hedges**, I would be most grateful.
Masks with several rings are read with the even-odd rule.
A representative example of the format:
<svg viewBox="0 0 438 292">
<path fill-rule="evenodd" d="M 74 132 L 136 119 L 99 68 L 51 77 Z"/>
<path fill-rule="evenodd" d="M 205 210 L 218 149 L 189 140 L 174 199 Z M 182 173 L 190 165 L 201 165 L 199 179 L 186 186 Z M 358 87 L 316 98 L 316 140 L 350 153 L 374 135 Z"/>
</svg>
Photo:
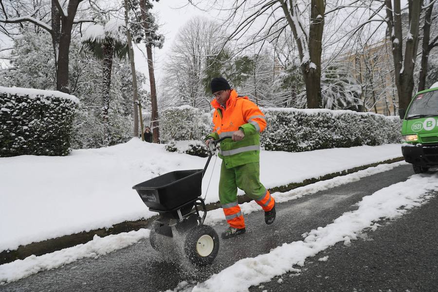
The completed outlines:
<svg viewBox="0 0 438 292">
<path fill-rule="evenodd" d="M 399 144 L 297 153 L 261 151 L 260 177 L 272 188 L 400 156 Z M 166 152 L 164 145 L 139 139 L 106 148 L 73 150 L 65 157 L 0 158 L 0 220 L 8 222 L 0 225 L 0 251 L 150 218 L 156 213 L 146 208 L 131 187 L 166 172 L 201 169 L 206 161 Z M 207 203 L 219 201 L 221 160 L 217 159 L 215 167 L 214 162 L 213 158 L 202 184 Z"/>
</svg>

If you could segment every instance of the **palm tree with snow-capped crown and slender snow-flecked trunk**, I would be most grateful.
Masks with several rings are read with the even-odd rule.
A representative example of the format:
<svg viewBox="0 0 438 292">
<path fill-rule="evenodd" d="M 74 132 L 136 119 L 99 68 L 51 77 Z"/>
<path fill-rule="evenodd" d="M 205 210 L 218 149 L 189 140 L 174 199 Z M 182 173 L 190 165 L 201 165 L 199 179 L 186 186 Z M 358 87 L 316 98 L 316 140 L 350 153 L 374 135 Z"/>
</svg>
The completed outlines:
<svg viewBox="0 0 438 292">
<path fill-rule="evenodd" d="M 104 126 L 103 143 L 109 146 L 110 129 L 110 86 L 112 60 L 114 55 L 124 58 L 128 53 L 126 41 L 125 23 L 119 19 L 110 19 L 104 25 L 94 24 L 87 28 L 82 43 L 84 43 L 93 55 L 102 60 L 102 124 Z"/>
</svg>

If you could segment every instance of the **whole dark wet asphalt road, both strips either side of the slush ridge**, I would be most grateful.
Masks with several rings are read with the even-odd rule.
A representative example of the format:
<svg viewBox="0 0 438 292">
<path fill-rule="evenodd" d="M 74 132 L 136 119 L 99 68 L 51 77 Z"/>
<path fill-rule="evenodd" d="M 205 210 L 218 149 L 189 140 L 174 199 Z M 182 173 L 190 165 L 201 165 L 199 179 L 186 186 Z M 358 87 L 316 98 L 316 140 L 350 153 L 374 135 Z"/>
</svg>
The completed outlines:
<svg viewBox="0 0 438 292">
<path fill-rule="evenodd" d="M 148 240 L 97 259 L 82 259 L 0 286 L 0 291 L 146 291 L 174 290 L 182 281 L 203 281 L 245 257 L 268 253 L 301 234 L 326 226 L 354 210 L 362 197 L 413 175 L 412 166 L 366 177 L 358 182 L 277 205 L 277 219 L 266 225 L 263 212 L 245 216 L 247 232 L 220 241 L 215 262 L 196 268 L 154 251 Z M 438 291 L 438 199 L 388 221 L 351 246 L 337 244 L 306 261 L 301 273 L 283 275 L 250 291 Z M 207 215 L 208 216 L 208 215 Z M 220 234 L 225 225 L 215 226 Z M 316 259 L 329 256 L 327 262 Z M 178 291 L 179 289 L 176 289 Z M 220 289 L 218 288 L 218 291 Z"/>
</svg>

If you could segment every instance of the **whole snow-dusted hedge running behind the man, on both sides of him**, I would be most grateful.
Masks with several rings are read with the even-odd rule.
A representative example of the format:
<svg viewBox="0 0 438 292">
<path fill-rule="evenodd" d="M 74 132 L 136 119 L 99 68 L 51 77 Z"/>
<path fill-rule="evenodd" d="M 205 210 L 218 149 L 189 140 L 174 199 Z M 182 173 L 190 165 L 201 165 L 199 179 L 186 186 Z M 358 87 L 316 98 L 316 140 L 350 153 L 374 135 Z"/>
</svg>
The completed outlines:
<svg viewBox="0 0 438 292">
<path fill-rule="evenodd" d="M 310 151 L 315 149 L 382 145 L 400 142 L 402 121 L 352 110 L 298 110 L 262 108 L 267 127 L 260 136 L 266 150 Z M 203 140 L 210 132 L 211 114 L 188 106 L 164 111 L 164 141 Z"/>
</svg>

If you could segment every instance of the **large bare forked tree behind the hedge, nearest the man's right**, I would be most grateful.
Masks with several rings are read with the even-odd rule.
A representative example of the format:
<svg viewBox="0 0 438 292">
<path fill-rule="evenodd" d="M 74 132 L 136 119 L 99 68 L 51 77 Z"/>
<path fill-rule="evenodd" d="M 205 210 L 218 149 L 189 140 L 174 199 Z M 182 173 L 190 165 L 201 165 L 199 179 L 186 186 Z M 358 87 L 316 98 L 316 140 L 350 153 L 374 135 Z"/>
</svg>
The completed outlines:
<svg viewBox="0 0 438 292">
<path fill-rule="evenodd" d="M 326 3 L 324 0 L 296 1 L 296 0 L 269 0 L 251 1 L 236 0 L 232 7 L 226 10 L 231 12 L 225 23 L 235 25 L 229 40 L 239 39 L 257 21 L 264 23 L 262 29 L 256 29 L 250 37 L 250 41 L 243 46 L 243 50 L 252 44 L 263 42 L 266 39 L 272 41 L 272 37 L 280 35 L 286 28 L 292 31 L 300 68 L 306 85 L 307 107 L 322 107 L 321 100 L 321 53 L 322 37 L 324 30 Z M 305 11 L 305 13 L 303 13 Z M 308 24 L 305 25 L 305 19 Z"/>
</svg>

